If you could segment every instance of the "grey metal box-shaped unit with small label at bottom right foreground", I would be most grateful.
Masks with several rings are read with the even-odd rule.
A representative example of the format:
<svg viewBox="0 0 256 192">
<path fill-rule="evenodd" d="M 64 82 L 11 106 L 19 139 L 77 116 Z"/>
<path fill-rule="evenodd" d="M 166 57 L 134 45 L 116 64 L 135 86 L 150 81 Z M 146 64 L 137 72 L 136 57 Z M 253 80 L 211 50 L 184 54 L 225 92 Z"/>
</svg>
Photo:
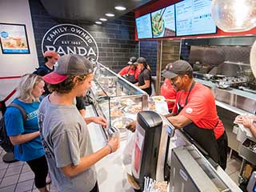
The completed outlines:
<svg viewBox="0 0 256 192">
<path fill-rule="evenodd" d="M 231 191 L 194 145 L 171 152 L 170 192 Z"/>
</svg>

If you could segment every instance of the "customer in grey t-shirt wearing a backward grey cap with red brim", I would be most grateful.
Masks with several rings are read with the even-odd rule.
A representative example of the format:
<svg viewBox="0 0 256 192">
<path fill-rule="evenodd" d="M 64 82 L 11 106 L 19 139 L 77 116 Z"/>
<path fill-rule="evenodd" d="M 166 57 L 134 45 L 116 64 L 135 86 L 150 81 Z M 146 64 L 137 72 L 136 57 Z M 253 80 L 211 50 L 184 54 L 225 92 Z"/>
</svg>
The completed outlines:
<svg viewBox="0 0 256 192">
<path fill-rule="evenodd" d="M 53 92 L 42 100 L 39 126 L 52 182 L 59 191 L 98 191 L 94 164 L 118 149 L 119 139 L 111 138 L 93 153 L 86 123 L 73 105 L 74 98 L 91 87 L 92 72 L 88 59 L 68 54 L 43 77 Z"/>
</svg>

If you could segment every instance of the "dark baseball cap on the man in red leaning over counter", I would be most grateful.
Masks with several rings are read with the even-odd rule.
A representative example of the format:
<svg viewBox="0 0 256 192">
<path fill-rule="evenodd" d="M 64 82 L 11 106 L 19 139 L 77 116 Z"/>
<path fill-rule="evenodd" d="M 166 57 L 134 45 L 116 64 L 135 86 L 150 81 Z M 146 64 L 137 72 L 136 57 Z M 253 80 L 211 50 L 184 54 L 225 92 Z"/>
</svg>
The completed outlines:
<svg viewBox="0 0 256 192">
<path fill-rule="evenodd" d="M 189 62 L 178 60 L 167 64 L 166 69 L 162 70 L 162 77 L 175 78 L 179 74 L 191 74 L 192 72 L 193 69 Z"/>
</svg>

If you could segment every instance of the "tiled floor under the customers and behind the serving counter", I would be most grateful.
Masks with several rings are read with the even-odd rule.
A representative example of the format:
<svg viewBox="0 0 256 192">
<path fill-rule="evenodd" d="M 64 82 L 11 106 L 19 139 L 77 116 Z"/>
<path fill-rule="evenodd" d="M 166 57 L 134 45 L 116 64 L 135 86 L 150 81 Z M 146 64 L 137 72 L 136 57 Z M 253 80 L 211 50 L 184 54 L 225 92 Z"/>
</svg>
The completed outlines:
<svg viewBox="0 0 256 192">
<path fill-rule="evenodd" d="M 38 191 L 34 186 L 34 173 L 25 162 L 2 162 L 6 154 L 0 147 L 0 192 Z M 238 174 L 242 161 L 233 156 L 227 162 L 226 173 L 238 184 Z M 51 192 L 57 192 L 53 185 L 47 186 Z"/>
</svg>

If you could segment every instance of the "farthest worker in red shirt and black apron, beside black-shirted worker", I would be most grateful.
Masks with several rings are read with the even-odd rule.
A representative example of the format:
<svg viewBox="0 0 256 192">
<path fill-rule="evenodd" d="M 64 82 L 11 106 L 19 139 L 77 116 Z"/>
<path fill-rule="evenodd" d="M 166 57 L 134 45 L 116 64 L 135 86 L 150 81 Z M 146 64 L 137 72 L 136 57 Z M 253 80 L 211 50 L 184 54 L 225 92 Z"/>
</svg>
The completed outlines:
<svg viewBox="0 0 256 192">
<path fill-rule="evenodd" d="M 138 82 L 138 75 L 140 74 L 141 70 L 137 67 L 137 58 L 131 57 L 128 66 L 125 66 L 120 70 L 118 74 L 126 78 L 131 83 L 136 83 Z"/>
</svg>

